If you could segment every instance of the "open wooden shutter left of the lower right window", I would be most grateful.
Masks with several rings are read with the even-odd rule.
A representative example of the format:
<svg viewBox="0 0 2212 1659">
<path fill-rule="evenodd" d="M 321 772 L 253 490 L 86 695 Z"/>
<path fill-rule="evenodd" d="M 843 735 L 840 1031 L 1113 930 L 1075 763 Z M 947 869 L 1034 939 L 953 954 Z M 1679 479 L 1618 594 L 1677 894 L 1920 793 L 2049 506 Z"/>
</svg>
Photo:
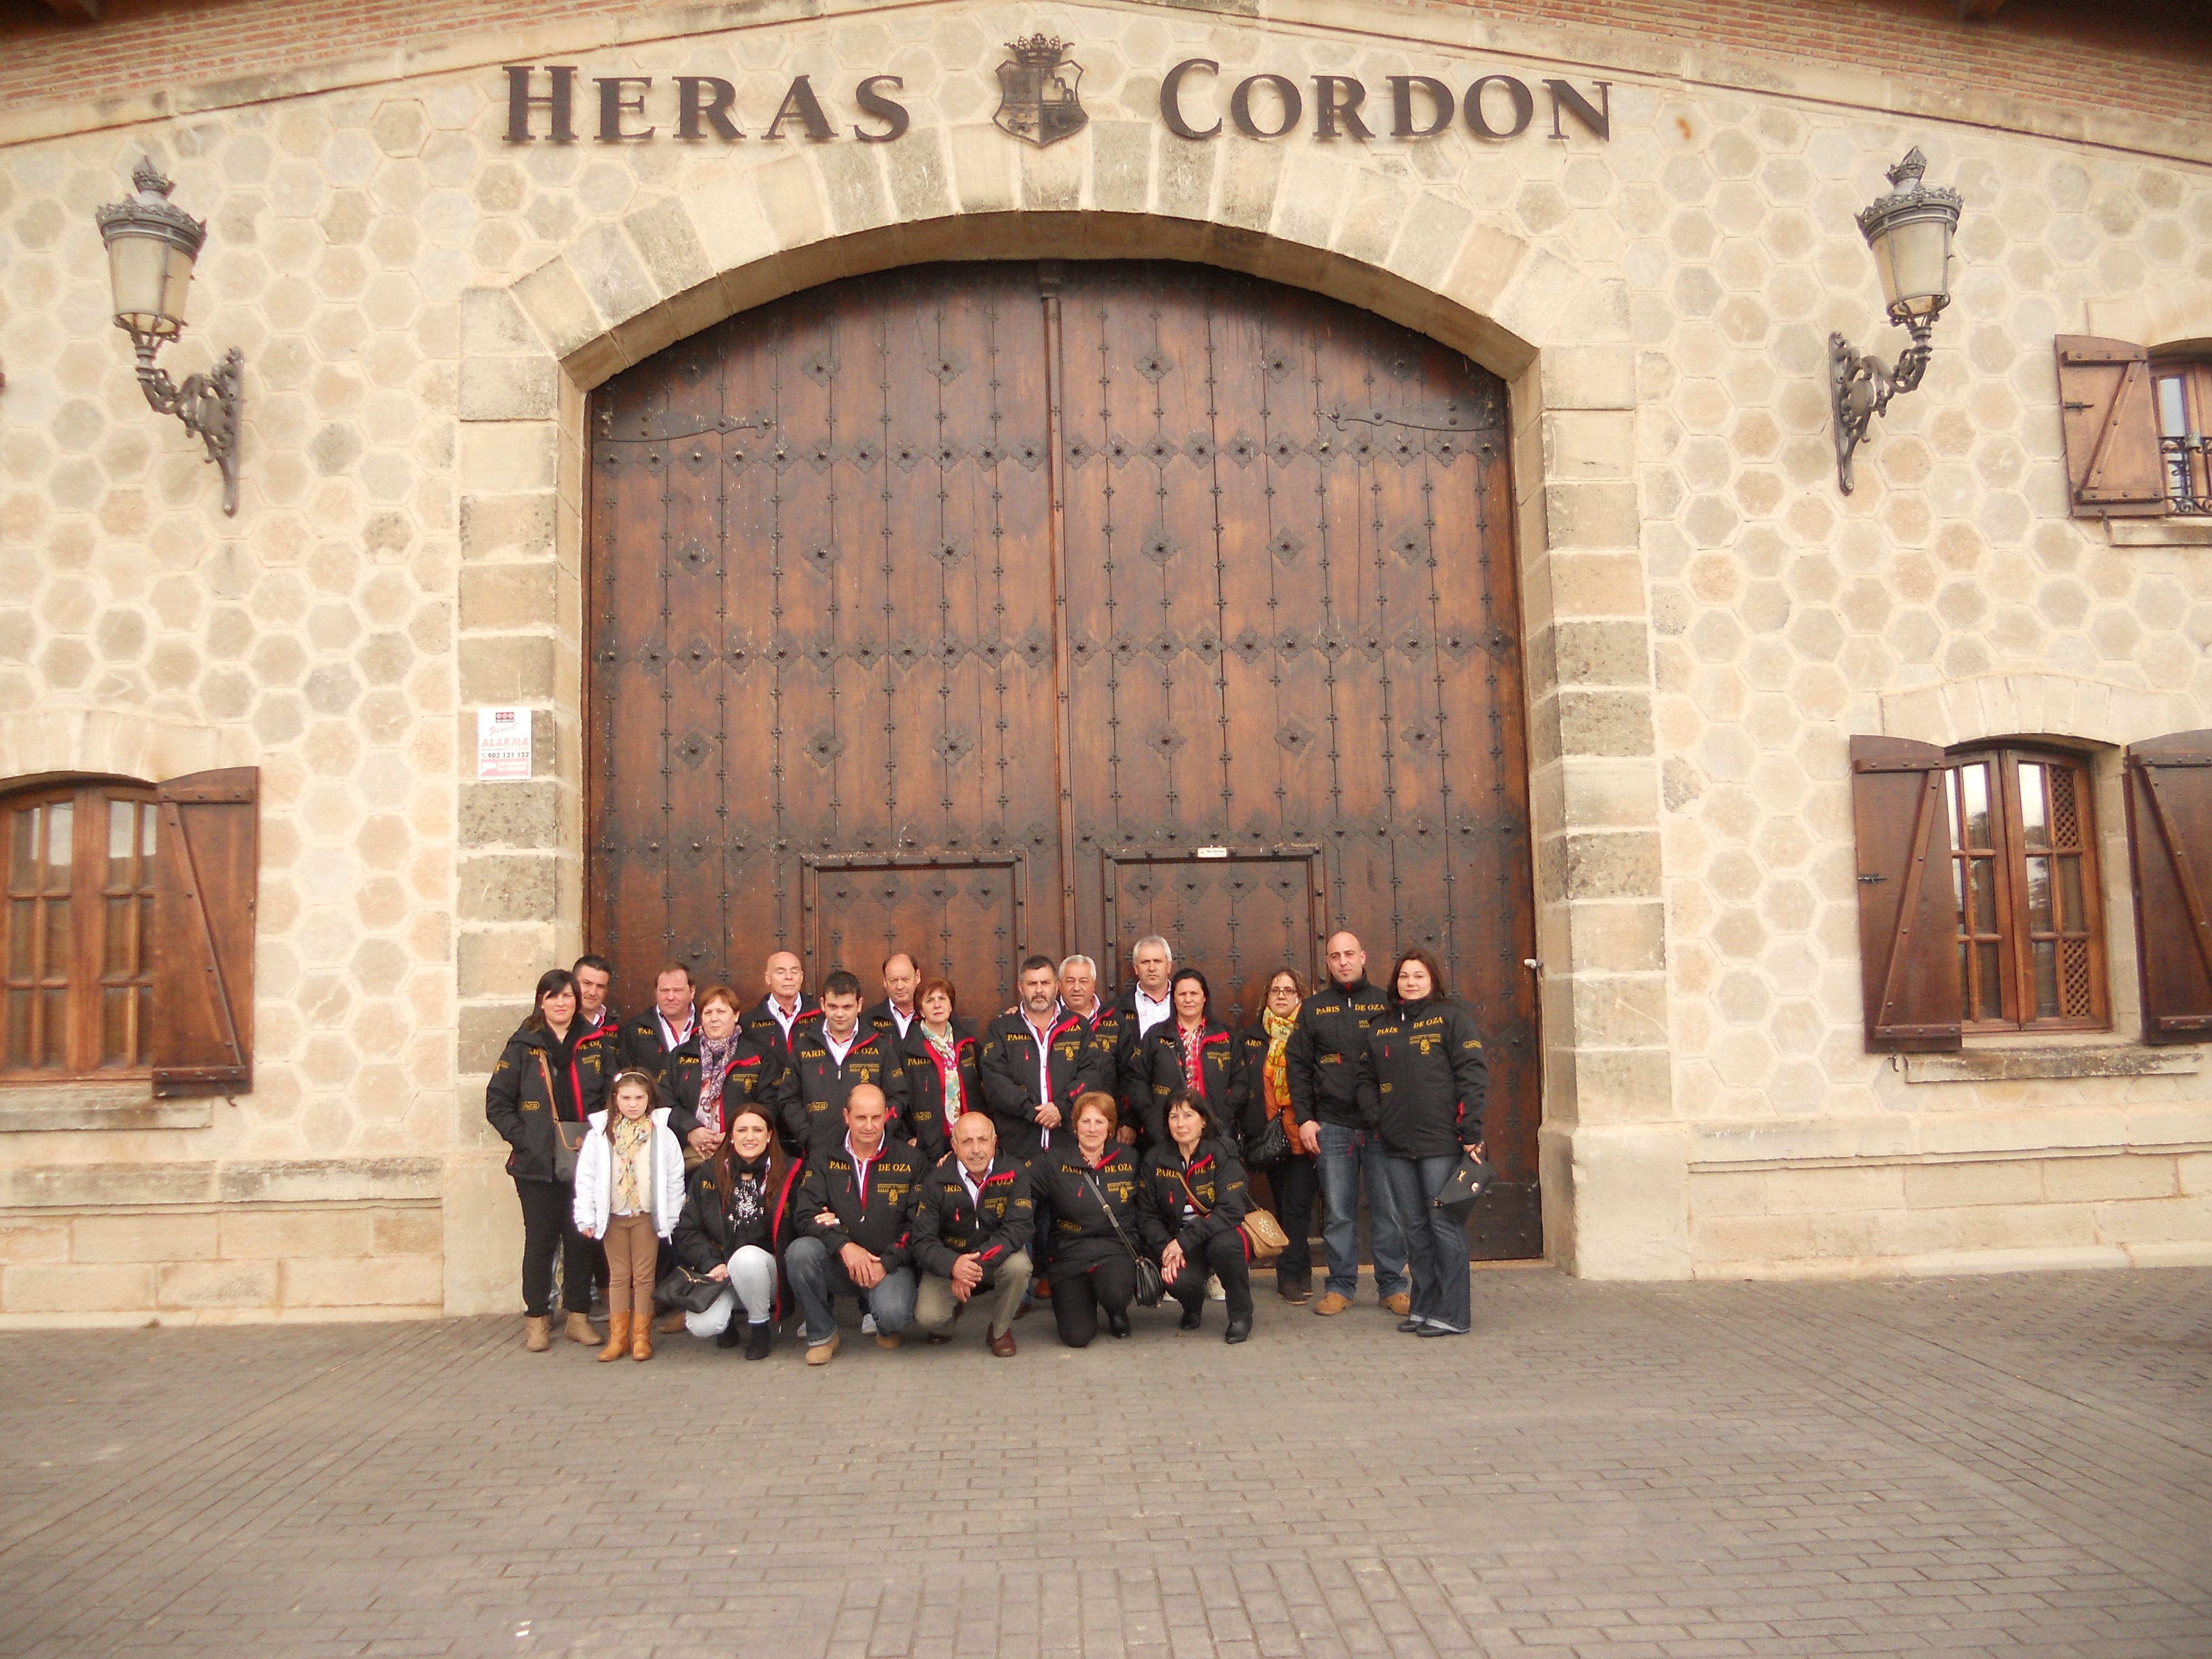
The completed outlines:
<svg viewBox="0 0 2212 1659">
<path fill-rule="evenodd" d="M 1867 1048 L 1936 1053 L 1960 1046 L 1947 779 L 1944 752 L 1933 743 L 1851 739 Z"/>
</svg>

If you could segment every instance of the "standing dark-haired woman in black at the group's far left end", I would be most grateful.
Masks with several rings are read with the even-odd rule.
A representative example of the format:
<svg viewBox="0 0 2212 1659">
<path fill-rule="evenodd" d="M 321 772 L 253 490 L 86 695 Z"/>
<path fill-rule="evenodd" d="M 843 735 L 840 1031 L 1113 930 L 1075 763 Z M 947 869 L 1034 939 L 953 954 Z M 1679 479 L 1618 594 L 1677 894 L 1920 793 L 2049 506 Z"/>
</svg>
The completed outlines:
<svg viewBox="0 0 2212 1659">
<path fill-rule="evenodd" d="M 593 1243 L 575 1230 L 575 1150 L 606 1093 L 606 1044 L 575 1018 L 575 978 L 538 975 L 531 1018 L 507 1040 L 484 1084 L 484 1119 L 507 1141 L 507 1172 L 522 1201 L 522 1312 L 531 1354 L 553 1345 L 553 1252 L 562 1259 L 564 1334 L 597 1347 L 591 1327 Z"/>
</svg>

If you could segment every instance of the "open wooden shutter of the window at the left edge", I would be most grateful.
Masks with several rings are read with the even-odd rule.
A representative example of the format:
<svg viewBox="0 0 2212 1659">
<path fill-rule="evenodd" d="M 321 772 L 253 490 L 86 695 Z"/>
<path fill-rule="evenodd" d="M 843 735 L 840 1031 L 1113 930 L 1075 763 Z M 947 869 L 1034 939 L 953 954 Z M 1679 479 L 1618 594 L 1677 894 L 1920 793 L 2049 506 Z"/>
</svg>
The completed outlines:
<svg viewBox="0 0 2212 1659">
<path fill-rule="evenodd" d="M 195 772 L 157 790 L 155 1095 L 252 1088 L 261 774 Z"/>
</svg>

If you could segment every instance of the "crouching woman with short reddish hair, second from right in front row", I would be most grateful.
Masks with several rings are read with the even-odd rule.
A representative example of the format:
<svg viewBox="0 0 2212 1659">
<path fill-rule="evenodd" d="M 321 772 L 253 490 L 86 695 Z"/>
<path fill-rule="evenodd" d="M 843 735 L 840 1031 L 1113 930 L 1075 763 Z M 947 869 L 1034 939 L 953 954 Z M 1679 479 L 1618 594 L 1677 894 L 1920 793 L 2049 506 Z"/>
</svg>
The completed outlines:
<svg viewBox="0 0 2212 1659">
<path fill-rule="evenodd" d="M 1128 1336 L 1128 1303 L 1137 1294 L 1137 1155 L 1115 1139 L 1121 1108 L 1113 1095 L 1075 1097 L 1075 1144 L 1053 1137 L 1037 1159 L 1044 1188 L 1037 1212 L 1048 1217 L 1053 1323 L 1068 1347 L 1091 1347 L 1106 1329 Z"/>
</svg>

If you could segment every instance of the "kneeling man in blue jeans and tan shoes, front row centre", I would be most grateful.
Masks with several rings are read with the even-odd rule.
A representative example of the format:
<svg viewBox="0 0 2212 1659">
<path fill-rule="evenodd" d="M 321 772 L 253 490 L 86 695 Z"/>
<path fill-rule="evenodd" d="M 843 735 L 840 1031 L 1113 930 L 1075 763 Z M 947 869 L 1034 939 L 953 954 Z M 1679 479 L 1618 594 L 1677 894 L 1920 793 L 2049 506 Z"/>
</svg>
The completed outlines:
<svg viewBox="0 0 2212 1659">
<path fill-rule="evenodd" d="M 920 1155 L 883 1139 L 885 1104 L 876 1084 L 845 1097 L 845 1141 L 807 1157 L 799 1183 L 799 1225 L 783 1272 L 805 1316 L 807 1365 L 836 1358 L 836 1296 L 867 1296 L 876 1345 L 898 1347 L 914 1321 L 909 1230 Z"/>
</svg>

